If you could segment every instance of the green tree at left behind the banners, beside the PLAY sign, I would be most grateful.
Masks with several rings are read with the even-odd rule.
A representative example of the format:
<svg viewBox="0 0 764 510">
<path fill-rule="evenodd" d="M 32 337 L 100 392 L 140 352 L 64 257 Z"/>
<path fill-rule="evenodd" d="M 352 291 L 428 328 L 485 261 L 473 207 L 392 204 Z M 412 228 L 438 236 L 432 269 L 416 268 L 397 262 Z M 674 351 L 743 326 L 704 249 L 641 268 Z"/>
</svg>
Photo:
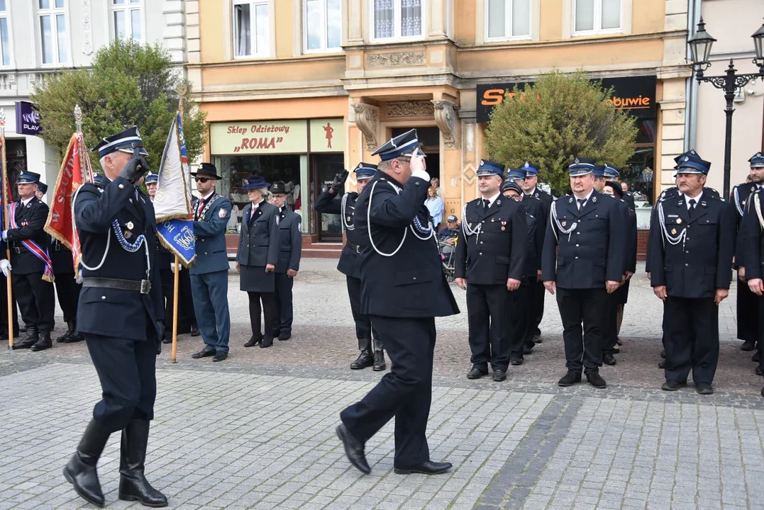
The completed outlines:
<svg viewBox="0 0 764 510">
<path fill-rule="evenodd" d="M 156 172 L 183 89 L 183 134 L 189 160 L 202 154 L 206 114 L 193 107 L 192 88 L 173 67 L 170 53 L 158 44 L 115 40 L 95 55 L 92 69 L 53 75 L 31 95 L 40 112 L 42 137 L 61 156 L 75 130 L 73 111 L 83 110 L 85 143 L 94 147 L 104 136 L 138 126 Z M 95 167 L 97 157 L 91 157 Z"/>
</svg>

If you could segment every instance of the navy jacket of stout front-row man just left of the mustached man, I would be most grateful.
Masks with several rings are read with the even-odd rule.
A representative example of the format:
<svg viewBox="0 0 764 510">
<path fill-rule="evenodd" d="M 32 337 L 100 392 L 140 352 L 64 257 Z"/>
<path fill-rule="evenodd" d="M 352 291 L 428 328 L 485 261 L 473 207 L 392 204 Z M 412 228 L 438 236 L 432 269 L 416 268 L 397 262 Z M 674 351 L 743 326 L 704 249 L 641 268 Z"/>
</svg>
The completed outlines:
<svg viewBox="0 0 764 510">
<path fill-rule="evenodd" d="M 557 220 L 550 213 L 542 253 L 543 281 L 556 281 L 564 289 L 594 289 L 623 279 L 626 226 L 615 200 L 592 191 L 578 210 L 575 195 L 568 195 L 552 204 L 552 212 Z M 560 227 L 568 230 L 574 223 L 570 233 L 560 232 Z"/>
</svg>

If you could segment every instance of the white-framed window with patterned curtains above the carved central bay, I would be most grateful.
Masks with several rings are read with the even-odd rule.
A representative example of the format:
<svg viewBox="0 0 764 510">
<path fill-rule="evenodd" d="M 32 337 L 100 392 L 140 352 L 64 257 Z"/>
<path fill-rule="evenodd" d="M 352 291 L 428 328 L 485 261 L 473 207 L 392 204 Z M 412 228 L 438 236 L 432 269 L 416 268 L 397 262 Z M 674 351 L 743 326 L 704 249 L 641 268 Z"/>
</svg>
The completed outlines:
<svg viewBox="0 0 764 510">
<path fill-rule="evenodd" d="M 371 0 L 374 39 L 422 37 L 422 0 Z"/>
</svg>

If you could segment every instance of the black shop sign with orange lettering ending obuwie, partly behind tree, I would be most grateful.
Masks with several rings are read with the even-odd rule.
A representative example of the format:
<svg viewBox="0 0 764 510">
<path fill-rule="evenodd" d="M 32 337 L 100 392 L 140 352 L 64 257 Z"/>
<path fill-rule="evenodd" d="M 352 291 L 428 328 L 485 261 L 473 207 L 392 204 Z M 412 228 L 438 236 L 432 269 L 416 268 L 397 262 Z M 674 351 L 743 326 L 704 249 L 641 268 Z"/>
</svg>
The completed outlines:
<svg viewBox="0 0 764 510">
<path fill-rule="evenodd" d="M 633 117 L 656 116 L 656 76 L 633 76 L 630 78 L 602 79 L 602 88 L 613 88 L 610 102 L 619 110 L 628 111 Z M 478 105 L 475 111 L 478 123 L 490 121 L 490 112 L 505 98 L 514 97 L 514 88 L 523 91 L 533 82 L 486 83 L 478 85 Z M 575 101 L 572 98 L 571 101 Z"/>
</svg>

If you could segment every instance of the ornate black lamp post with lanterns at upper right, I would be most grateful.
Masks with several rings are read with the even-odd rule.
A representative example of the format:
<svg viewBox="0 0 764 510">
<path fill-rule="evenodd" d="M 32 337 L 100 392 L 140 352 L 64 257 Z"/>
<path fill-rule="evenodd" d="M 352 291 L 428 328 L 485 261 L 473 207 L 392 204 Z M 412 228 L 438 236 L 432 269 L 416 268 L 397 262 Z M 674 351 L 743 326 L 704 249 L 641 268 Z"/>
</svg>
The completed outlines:
<svg viewBox="0 0 764 510">
<path fill-rule="evenodd" d="M 698 23 L 698 30 L 694 36 L 687 40 L 690 47 L 690 55 L 692 57 L 692 68 L 695 72 L 695 78 L 698 79 L 698 83 L 708 82 L 714 85 L 716 88 L 720 88 L 724 91 L 724 99 L 727 100 L 727 107 L 724 109 L 724 113 L 727 114 L 727 130 L 724 136 L 724 199 L 730 196 L 730 168 L 732 161 L 732 114 L 735 109 L 733 108 L 733 101 L 735 99 L 735 92 L 740 87 L 745 87 L 748 82 L 753 79 L 764 79 L 764 24 L 756 30 L 753 34 L 753 48 L 756 51 L 756 57 L 753 59 L 753 63 L 759 66 L 758 74 L 737 74 L 735 69 L 735 63 L 733 59 L 730 59 L 730 65 L 727 67 L 727 72 L 723 76 L 705 76 L 704 71 L 711 66 L 711 62 L 708 61 L 711 56 L 711 47 L 714 46 L 716 39 L 711 37 L 706 31 L 706 24 L 701 18 Z"/>
</svg>

